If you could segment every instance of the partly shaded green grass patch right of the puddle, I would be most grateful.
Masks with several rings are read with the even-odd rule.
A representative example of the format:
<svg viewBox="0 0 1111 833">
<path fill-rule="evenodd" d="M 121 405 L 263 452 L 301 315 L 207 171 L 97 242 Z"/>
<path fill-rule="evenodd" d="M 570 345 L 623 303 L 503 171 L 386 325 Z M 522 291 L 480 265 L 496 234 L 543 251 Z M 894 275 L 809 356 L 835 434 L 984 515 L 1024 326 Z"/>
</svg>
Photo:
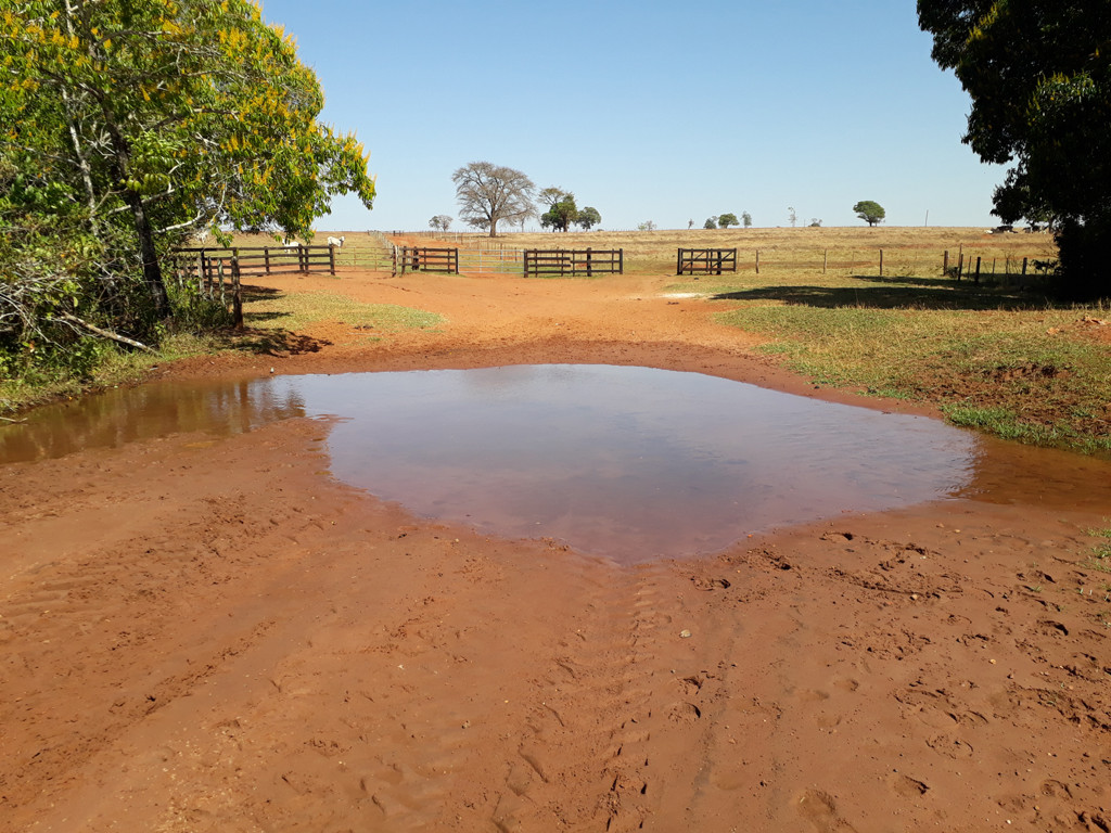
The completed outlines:
<svg viewBox="0 0 1111 833">
<path fill-rule="evenodd" d="M 1111 453 L 1100 307 L 918 278 L 771 285 L 749 275 L 714 284 L 710 298 L 730 305 L 721 322 L 765 335 L 764 352 L 815 382 L 933 403 L 957 424 L 1011 440 Z"/>
</svg>

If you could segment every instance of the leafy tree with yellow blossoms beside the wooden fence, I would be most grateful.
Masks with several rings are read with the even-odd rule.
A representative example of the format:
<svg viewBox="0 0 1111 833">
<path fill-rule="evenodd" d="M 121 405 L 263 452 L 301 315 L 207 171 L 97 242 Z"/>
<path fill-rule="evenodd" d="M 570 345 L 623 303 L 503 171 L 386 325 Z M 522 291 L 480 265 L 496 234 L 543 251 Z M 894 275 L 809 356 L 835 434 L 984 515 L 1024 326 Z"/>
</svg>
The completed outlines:
<svg viewBox="0 0 1111 833">
<path fill-rule="evenodd" d="M 9 0 L 0 77 L 4 351 L 51 322 L 138 329 L 137 303 L 164 319 L 160 258 L 199 230 L 309 235 L 334 193 L 372 204 L 361 145 L 249 0 Z"/>
</svg>

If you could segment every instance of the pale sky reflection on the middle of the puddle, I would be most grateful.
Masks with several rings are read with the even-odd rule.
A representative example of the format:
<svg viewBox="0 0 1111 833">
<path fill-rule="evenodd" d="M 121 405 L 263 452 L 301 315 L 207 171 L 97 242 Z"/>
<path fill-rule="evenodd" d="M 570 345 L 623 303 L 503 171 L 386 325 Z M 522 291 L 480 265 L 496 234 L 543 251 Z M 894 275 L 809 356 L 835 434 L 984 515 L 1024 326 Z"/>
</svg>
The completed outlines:
<svg viewBox="0 0 1111 833">
<path fill-rule="evenodd" d="M 357 381 L 359 380 L 359 381 Z M 297 381 L 332 470 L 420 514 L 630 562 L 957 493 L 975 439 L 697 373 L 540 365 Z"/>
</svg>

